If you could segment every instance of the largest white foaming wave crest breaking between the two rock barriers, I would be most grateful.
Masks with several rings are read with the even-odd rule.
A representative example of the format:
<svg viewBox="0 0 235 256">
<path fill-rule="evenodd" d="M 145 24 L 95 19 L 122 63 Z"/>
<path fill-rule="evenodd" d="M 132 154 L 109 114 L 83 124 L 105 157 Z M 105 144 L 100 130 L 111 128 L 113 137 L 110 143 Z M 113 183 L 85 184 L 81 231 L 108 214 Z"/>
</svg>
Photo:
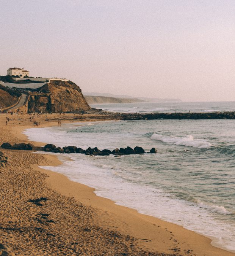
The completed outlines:
<svg viewBox="0 0 235 256">
<path fill-rule="evenodd" d="M 174 137 L 163 134 L 153 134 L 150 139 L 200 149 L 207 149 L 212 146 L 210 142 L 207 142 L 206 140 L 194 139 L 192 135 L 188 135 L 186 137 Z"/>
</svg>

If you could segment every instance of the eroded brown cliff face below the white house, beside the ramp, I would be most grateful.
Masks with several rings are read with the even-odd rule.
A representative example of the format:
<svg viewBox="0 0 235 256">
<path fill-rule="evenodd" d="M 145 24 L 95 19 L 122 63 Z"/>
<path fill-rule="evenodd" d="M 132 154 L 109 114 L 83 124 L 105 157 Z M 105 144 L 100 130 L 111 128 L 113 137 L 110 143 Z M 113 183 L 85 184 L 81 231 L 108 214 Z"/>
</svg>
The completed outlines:
<svg viewBox="0 0 235 256">
<path fill-rule="evenodd" d="M 88 111 L 91 107 L 86 102 L 81 89 L 71 81 L 51 81 L 31 94 L 28 112 L 71 112 Z"/>
</svg>

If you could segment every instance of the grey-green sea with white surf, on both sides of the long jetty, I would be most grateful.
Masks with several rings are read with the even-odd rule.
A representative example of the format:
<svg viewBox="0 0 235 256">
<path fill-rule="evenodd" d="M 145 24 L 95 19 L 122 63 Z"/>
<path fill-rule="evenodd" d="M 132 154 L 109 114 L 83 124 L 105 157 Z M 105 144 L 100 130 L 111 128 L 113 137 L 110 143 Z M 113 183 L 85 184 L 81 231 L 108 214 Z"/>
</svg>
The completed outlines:
<svg viewBox="0 0 235 256">
<path fill-rule="evenodd" d="M 125 113 L 233 111 L 235 102 L 92 105 Z M 95 188 L 97 196 L 179 224 L 235 252 L 235 120 L 138 120 L 25 130 L 30 140 L 99 149 L 141 146 L 158 154 L 69 154 L 43 167 Z M 58 155 L 58 154 L 57 154 Z"/>
</svg>

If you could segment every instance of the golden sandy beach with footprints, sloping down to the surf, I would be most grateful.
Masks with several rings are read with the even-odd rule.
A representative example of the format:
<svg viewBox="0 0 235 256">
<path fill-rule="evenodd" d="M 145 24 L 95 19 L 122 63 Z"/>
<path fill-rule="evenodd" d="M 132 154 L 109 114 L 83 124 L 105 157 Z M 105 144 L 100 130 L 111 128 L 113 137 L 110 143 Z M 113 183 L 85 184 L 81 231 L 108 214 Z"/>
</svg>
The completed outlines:
<svg viewBox="0 0 235 256">
<path fill-rule="evenodd" d="M 6 116 L 14 118 L 7 125 Z M 58 125 L 56 118 L 64 123 L 73 116 L 42 115 L 34 121 L 52 126 Z M 26 114 L 0 114 L 0 127 L 1 144 L 28 142 L 22 130 L 33 122 Z M 92 188 L 38 167 L 61 164 L 56 156 L 0 150 L 9 157 L 9 166 L 0 169 L 0 241 L 16 255 L 235 256 L 202 235 L 116 205 Z"/>
</svg>

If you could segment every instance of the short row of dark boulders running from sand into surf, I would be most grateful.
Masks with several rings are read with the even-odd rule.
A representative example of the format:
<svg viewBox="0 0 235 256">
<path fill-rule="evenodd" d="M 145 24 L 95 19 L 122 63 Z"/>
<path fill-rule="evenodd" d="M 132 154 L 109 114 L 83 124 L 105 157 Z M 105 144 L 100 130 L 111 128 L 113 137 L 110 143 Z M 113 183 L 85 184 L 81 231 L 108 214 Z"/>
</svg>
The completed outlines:
<svg viewBox="0 0 235 256">
<path fill-rule="evenodd" d="M 53 144 L 47 144 L 44 147 L 37 147 L 34 146 L 31 143 L 19 143 L 19 144 L 14 144 L 13 146 L 5 142 L 2 144 L 2 148 L 7 148 L 7 149 L 17 149 L 17 150 L 34 150 L 34 151 L 45 151 L 45 152 L 52 152 L 52 153 L 77 153 L 77 154 L 86 154 L 89 156 L 109 156 L 110 154 L 113 154 L 115 156 L 124 156 L 124 155 L 131 155 L 131 154 L 144 154 L 146 153 L 143 148 L 136 146 L 135 148 L 116 148 L 113 151 L 109 149 L 103 149 L 100 150 L 97 147 L 95 148 L 87 148 L 82 149 L 82 148 L 77 148 L 76 146 L 67 146 L 67 147 L 56 147 Z M 156 148 L 150 149 L 150 152 L 147 153 L 157 153 Z"/>
</svg>

